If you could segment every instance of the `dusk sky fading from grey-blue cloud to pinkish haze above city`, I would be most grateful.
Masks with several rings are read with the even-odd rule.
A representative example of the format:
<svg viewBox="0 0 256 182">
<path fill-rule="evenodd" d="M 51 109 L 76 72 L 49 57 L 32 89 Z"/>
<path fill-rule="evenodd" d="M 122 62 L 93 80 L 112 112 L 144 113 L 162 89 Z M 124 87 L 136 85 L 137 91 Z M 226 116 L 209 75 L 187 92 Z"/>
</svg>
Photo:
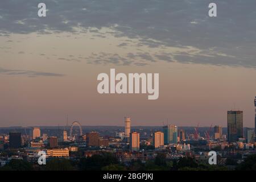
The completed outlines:
<svg viewBox="0 0 256 182">
<path fill-rule="evenodd" d="M 0 127 L 254 127 L 256 1 L 0 1 Z M 208 16 L 210 2 L 217 17 Z M 97 75 L 159 73 L 159 98 L 99 94 Z"/>
</svg>

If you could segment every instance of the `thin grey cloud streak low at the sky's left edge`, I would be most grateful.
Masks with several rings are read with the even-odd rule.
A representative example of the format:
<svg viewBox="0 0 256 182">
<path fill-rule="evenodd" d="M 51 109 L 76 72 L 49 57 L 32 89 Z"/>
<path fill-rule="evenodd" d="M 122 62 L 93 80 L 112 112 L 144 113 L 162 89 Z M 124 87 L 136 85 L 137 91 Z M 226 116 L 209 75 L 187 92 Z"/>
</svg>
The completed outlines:
<svg viewBox="0 0 256 182">
<path fill-rule="evenodd" d="M 3 69 L 0 68 L 0 74 L 5 75 L 24 75 L 27 77 L 39 77 L 39 76 L 54 76 L 54 77 L 61 77 L 65 76 L 59 73 L 49 73 L 49 72 L 36 72 L 36 71 L 28 71 L 28 70 L 21 70 L 21 69 Z"/>
</svg>

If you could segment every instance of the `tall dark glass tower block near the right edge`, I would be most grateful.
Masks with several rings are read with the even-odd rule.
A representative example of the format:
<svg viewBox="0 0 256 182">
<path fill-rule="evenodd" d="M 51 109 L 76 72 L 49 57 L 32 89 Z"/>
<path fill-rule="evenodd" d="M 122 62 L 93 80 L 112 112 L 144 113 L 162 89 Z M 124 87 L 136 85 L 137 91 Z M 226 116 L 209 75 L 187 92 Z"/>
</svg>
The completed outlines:
<svg viewBox="0 0 256 182">
<path fill-rule="evenodd" d="M 243 138 L 243 111 L 228 111 L 228 141 Z"/>
</svg>

